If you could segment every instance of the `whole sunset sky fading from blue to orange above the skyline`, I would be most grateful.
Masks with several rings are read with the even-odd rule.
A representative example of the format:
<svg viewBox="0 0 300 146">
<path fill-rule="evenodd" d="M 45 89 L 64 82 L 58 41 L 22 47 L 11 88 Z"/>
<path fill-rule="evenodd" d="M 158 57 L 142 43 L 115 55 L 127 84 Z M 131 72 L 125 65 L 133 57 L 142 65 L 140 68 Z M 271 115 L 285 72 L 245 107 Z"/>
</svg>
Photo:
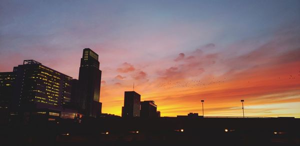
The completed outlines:
<svg viewBox="0 0 300 146">
<path fill-rule="evenodd" d="M 124 91 L 161 116 L 300 117 L 299 0 L 0 0 L 0 71 L 24 59 L 78 78 L 99 55 L 102 112 Z"/>
</svg>

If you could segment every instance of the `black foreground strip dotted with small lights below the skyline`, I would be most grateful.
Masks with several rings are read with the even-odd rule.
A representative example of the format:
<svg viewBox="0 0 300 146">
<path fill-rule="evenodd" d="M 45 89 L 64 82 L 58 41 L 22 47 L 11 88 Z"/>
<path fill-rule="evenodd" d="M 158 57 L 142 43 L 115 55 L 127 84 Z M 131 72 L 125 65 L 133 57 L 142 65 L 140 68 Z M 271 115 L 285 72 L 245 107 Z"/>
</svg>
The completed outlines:
<svg viewBox="0 0 300 146">
<path fill-rule="evenodd" d="M 181 130 L 182 129 L 182 130 Z M 0 145 L 300 145 L 297 118 L 105 118 L 0 127 Z"/>
</svg>

